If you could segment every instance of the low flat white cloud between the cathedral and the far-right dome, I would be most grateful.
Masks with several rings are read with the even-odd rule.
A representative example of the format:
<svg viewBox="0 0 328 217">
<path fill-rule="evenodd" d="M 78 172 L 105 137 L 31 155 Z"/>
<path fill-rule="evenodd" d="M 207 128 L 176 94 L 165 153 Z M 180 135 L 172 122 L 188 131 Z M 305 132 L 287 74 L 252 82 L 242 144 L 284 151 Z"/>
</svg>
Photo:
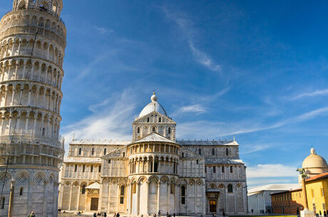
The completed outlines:
<svg viewBox="0 0 328 217">
<path fill-rule="evenodd" d="M 258 164 L 246 170 L 247 179 L 267 177 L 297 177 L 297 167 L 282 164 Z"/>
</svg>

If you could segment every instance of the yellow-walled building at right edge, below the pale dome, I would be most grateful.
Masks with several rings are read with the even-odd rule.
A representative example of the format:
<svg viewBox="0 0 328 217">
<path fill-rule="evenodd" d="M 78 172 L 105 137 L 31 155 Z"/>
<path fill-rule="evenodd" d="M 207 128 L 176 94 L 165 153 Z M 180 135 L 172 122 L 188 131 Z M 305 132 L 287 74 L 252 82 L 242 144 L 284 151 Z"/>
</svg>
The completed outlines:
<svg viewBox="0 0 328 217">
<path fill-rule="evenodd" d="M 323 215 L 328 209 L 328 172 L 305 180 L 305 186 L 309 210 L 315 213 L 321 211 Z"/>
</svg>

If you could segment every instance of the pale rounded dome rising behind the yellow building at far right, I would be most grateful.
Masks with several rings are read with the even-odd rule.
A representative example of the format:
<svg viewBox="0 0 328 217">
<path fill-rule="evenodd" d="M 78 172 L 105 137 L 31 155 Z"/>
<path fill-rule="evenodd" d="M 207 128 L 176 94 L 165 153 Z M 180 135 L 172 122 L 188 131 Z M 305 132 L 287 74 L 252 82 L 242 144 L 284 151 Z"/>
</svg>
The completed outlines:
<svg viewBox="0 0 328 217">
<path fill-rule="evenodd" d="M 315 153 L 315 149 L 311 149 L 311 154 L 304 159 L 302 168 L 307 174 L 322 174 L 328 171 L 328 164 L 326 160 Z"/>
</svg>

